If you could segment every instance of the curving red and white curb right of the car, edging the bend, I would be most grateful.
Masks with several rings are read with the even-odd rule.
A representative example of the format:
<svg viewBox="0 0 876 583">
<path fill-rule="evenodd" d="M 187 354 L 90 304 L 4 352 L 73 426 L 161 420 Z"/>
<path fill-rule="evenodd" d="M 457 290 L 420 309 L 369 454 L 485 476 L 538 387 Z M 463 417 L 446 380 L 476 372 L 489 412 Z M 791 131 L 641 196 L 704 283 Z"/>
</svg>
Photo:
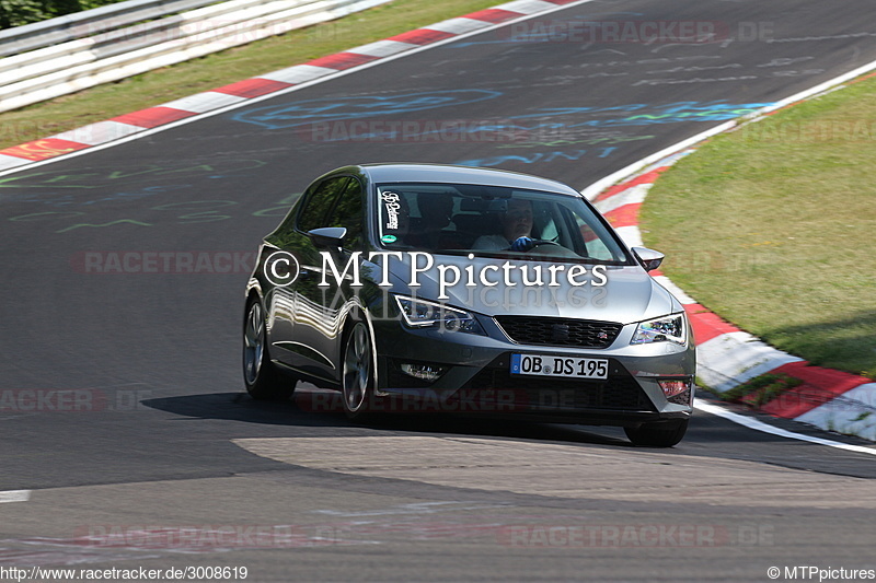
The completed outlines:
<svg viewBox="0 0 876 583">
<path fill-rule="evenodd" d="M 853 71 L 855 74 L 852 77 L 874 68 L 876 62 L 862 68 L 863 70 Z M 814 88 L 807 95 L 795 96 L 793 102 L 785 100 L 770 106 L 758 116 L 745 119 L 742 123 L 759 121 L 780 108 L 823 94 L 828 89 L 838 89 L 837 83 L 848 81 L 845 78 L 850 75 L 843 75 L 839 81 L 831 81 L 826 84 L 827 86 Z M 710 130 L 707 136 L 695 137 L 693 142 L 687 140 L 682 144 L 664 150 L 658 153 L 661 158 L 646 165 L 644 170 L 632 168 L 632 172 L 626 172 L 632 178 L 622 178 L 621 184 L 608 189 L 603 189 L 607 182 L 602 180 L 584 194 L 593 200 L 596 208 L 606 215 L 629 245 L 641 246 L 643 243 L 638 230 L 639 209 L 660 174 L 695 151 L 696 148 L 692 147 L 692 143 L 702 143 L 703 139 L 739 125 L 736 121 L 725 124 Z M 621 173 L 613 175 L 613 178 L 616 180 Z M 724 322 L 696 303 L 659 271 L 654 272 L 654 279 L 684 305 L 696 342 L 698 375 L 707 386 L 723 393 L 762 374 L 785 374 L 803 381 L 803 384 L 761 406 L 760 411 L 809 423 L 828 431 L 876 441 L 876 383 L 864 376 L 814 366 L 800 358 L 782 352 Z"/>
</svg>

